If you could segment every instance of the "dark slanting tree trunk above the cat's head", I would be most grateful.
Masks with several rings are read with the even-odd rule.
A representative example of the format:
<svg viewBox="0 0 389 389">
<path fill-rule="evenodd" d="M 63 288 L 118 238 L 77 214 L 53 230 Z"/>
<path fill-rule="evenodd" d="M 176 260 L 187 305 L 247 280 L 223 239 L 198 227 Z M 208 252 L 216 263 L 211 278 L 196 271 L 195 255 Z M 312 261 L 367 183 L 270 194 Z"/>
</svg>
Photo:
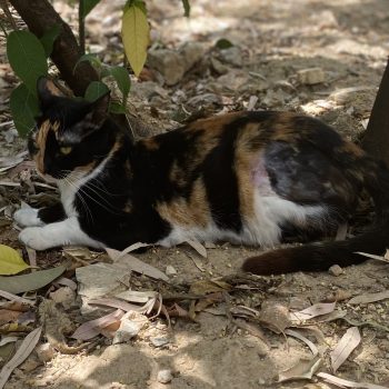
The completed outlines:
<svg viewBox="0 0 389 389">
<path fill-rule="evenodd" d="M 74 94 L 83 96 L 89 83 L 97 81 L 99 77 L 87 61 L 79 63 L 77 71 L 73 71 L 82 52 L 69 24 L 62 20 L 48 0 L 10 0 L 10 2 L 38 38 L 54 24 L 61 27 L 50 57 Z"/>
</svg>

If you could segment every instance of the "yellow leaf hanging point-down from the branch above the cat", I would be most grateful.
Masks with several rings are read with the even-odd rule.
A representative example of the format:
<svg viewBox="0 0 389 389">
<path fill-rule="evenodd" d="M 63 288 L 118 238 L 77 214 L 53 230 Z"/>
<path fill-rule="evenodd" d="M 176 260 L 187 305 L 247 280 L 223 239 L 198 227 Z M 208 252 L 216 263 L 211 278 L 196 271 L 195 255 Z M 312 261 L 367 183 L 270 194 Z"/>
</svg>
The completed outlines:
<svg viewBox="0 0 389 389">
<path fill-rule="evenodd" d="M 124 52 L 136 76 L 142 70 L 149 44 L 149 23 L 144 11 L 136 6 L 124 9 L 121 27 Z"/>
</svg>

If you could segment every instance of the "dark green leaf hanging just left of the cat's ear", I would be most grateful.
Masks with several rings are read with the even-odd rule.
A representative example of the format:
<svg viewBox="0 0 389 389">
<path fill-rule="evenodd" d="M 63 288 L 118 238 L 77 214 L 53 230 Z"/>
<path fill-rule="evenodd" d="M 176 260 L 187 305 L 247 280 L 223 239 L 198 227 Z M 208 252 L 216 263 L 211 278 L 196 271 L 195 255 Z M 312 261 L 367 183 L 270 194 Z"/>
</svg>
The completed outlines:
<svg viewBox="0 0 389 389">
<path fill-rule="evenodd" d="M 31 93 L 24 83 L 12 90 L 10 107 L 14 127 L 21 137 L 36 124 L 36 117 L 39 114 L 38 98 Z"/>
</svg>

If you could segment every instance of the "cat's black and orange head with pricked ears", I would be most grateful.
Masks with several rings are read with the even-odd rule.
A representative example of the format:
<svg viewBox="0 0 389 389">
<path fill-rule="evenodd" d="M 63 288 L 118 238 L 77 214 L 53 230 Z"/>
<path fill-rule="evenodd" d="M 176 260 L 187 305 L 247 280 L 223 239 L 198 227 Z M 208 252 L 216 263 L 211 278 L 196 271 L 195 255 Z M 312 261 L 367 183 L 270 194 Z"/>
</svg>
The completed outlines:
<svg viewBox="0 0 389 389">
<path fill-rule="evenodd" d="M 70 99 L 46 79 L 37 84 L 41 116 L 28 146 L 37 170 L 47 179 L 92 170 L 107 152 L 109 94 L 94 102 Z"/>
</svg>

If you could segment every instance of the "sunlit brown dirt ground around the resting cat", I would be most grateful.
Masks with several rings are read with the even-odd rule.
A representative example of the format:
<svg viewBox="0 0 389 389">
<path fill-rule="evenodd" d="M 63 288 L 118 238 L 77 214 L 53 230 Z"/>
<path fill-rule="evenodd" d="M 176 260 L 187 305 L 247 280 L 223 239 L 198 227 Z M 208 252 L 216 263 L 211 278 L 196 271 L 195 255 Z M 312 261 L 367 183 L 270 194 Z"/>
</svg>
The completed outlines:
<svg viewBox="0 0 389 389">
<path fill-rule="evenodd" d="M 62 16 L 76 20 L 73 8 L 54 3 Z M 166 83 L 169 74 L 158 67 L 158 61 L 150 63 L 142 82 L 132 80 L 129 109 L 146 123 L 137 129 L 136 136 L 167 131 L 193 114 L 237 109 L 306 112 L 321 117 L 353 140 L 366 128 L 389 52 L 387 0 L 192 0 L 189 20 L 182 18 L 180 1 L 147 3 L 152 27 L 151 50 L 178 50 L 184 57 L 189 54 L 181 46 L 196 43 L 200 49 L 193 51 L 200 52 L 200 60 L 171 86 Z M 88 18 L 90 50 L 99 52 L 108 63 L 122 60 L 121 6 L 122 1 L 104 0 Z M 221 38 L 233 47 L 218 49 L 216 42 Z M 2 59 L 3 50 L 2 46 Z M 308 82 L 301 76 L 300 71 L 309 68 L 319 68 L 312 71 L 318 82 Z M 24 141 L 9 122 L 8 97 L 16 82 L 9 66 L 2 61 L 2 157 L 24 149 Z M 21 247 L 9 216 L 20 199 L 37 207 L 56 196 L 49 188 L 31 187 L 33 176 L 31 179 L 29 171 L 0 176 L 0 241 L 14 248 Z M 14 186 L 4 186 L 6 180 Z M 172 266 L 177 273 L 169 276 L 170 285 L 152 282 L 146 277 L 131 279 L 136 290 L 157 290 L 163 295 L 188 292 L 199 280 L 230 277 L 227 281 L 233 286 L 232 290 L 223 292 L 223 298 L 213 305 L 199 309 L 194 320 L 172 318 L 169 330 L 160 317 L 150 320 L 128 343 L 112 346 L 110 339 L 100 338 L 89 352 L 72 356 L 58 352 L 46 363 L 31 362 L 31 356 L 30 363 L 28 360 L 18 368 L 6 388 L 159 389 L 166 387 L 157 377 L 163 369 L 172 373 L 168 383 L 172 389 L 335 388 L 318 377 L 278 383 L 281 371 L 300 359 L 311 359 L 307 345 L 259 325 L 247 311 L 231 315 L 231 307 L 260 311 L 270 305 L 275 310 L 279 307 L 301 310 L 333 296 L 342 300 L 337 302 L 336 310 L 347 315 L 335 320 L 328 318 L 329 321 L 315 319 L 305 330 L 305 336 L 322 353 L 319 371 L 331 372 L 329 351 L 349 328 L 358 327 L 361 342 L 336 376 L 389 387 L 389 299 L 348 302 L 353 296 L 388 290 L 387 263 L 371 260 L 342 269 L 339 276 L 298 272 L 277 278 L 241 275 L 239 278 L 236 275 L 242 260 L 260 252 L 259 249 L 221 243 L 207 252 L 205 259 L 186 246 L 153 248 L 136 256 L 162 271 Z M 49 267 L 62 258 L 61 250 L 39 253 L 38 265 Z M 71 277 L 77 281 L 74 275 Z M 191 301 L 178 303 L 190 311 Z M 72 315 L 79 316 L 78 307 L 73 307 Z M 247 327 L 248 322 L 251 327 Z M 156 337 L 168 341 L 156 346 Z"/>
</svg>

